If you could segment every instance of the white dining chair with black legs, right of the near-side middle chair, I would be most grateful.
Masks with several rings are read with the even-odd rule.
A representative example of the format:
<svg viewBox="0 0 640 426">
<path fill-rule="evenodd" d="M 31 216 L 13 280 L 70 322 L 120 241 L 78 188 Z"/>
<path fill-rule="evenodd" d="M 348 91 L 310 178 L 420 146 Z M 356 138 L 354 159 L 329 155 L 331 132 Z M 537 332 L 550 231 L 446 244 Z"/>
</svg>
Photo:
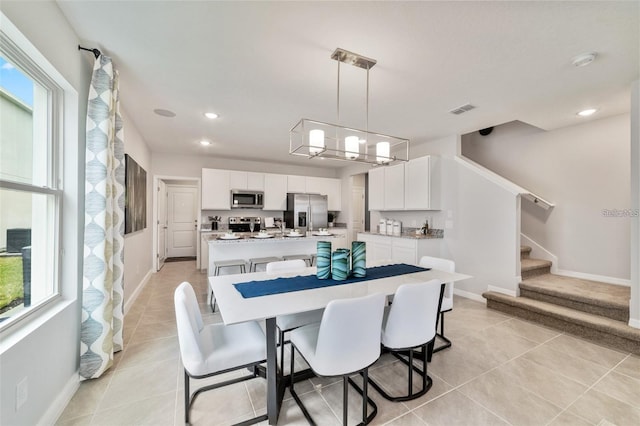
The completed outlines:
<svg viewBox="0 0 640 426">
<path fill-rule="evenodd" d="M 404 362 L 409 370 L 406 395 L 392 396 L 369 378 L 371 385 L 390 401 L 416 399 L 431 389 L 433 380 L 427 374 L 428 346 L 436 337 L 444 287 L 445 285 L 439 280 L 403 284 L 398 287 L 393 304 L 385 308 L 382 321 L 382 346 Z M 421 349 L 422 369 L 414 365 L 415 349 Z M 405 354 L 408 359 L 404 358 Z M 422 379 L 422 386 L 417 391 L 413 389 L 414 371 L 419 373 Z"/>
</svg>

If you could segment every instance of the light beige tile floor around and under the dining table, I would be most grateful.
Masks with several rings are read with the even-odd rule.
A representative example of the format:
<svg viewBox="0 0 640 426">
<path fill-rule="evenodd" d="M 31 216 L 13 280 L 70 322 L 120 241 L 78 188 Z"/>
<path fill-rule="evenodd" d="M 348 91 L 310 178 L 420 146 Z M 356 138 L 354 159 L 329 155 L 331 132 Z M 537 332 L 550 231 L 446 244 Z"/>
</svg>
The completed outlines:
<svg viewBox="0 0 640 426">
<path fill-rule="evenodd" d="M 182 281 L 196 289 L 204 320 L 221 320 L 206 304 L 206 276 L 195 262 L 165 264 L 126 315 L 125 349 L 116 354 L 114 367 L 100 379 L 80 384 L 58 425 L 183 424 L 183 373 L 173 309 L 173 291 Z M 436 353 L 429 364 L 431 390 L 418 400 L 391 403 L 370 388 L 379 410 L 373 424 L 640 424 L 640 357 L 457 296 L 445 327 L 453 346 Z M 388 355 L 371 376 L 387 390 L 404 389 L 406 383 L 404 365 Z M 316 378 L 296 387 L 319 425 L 340 424 L 340 382 Z M 265 388 L 264 380 L 256 379 L 206 392 L 192 409 L 192 422 L 226 425 L 263 414 Z M 350 424 L 355 424 L 360 399 L 353 390 L 349 398 Z M 306 424 L 288 394 L 279 424 Z"/>
</svg>

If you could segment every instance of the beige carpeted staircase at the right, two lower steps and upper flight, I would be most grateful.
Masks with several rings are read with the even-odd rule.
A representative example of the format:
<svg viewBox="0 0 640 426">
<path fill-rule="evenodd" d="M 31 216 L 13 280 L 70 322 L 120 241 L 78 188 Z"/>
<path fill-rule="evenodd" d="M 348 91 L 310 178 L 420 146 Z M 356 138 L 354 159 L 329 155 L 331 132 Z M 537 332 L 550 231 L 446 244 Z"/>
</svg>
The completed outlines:
<svg viewBox="0 0 640 426">
<path fill-rule="evenodd" d="M 629 327 L 629 287 L 551 274 L 551 262 L 520 248 L 520 296 L 483 294 L 487 307 L 640 355 L 640 329 Z"/>
</svg>

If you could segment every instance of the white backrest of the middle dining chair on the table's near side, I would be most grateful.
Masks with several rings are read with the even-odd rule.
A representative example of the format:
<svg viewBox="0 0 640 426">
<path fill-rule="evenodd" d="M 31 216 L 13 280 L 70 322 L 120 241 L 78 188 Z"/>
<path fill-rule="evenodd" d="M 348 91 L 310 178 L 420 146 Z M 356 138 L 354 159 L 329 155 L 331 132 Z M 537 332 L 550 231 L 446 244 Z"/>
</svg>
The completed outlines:
<svg viewBox="0 0 640 426">
<path fill-rule="evenodd" d="M 381 293 L 329 302 L 320 322 L 312 368 L 323 376 L 338 376 L 373 364 L 380 357 L 384 304 Z"/>
</svg>

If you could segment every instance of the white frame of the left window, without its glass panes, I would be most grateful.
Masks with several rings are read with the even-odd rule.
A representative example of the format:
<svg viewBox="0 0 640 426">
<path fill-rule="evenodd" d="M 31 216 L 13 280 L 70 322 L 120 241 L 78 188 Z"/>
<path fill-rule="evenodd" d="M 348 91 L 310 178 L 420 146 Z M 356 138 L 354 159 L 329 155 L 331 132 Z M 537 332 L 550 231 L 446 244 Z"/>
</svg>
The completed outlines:
<svg viewBox="0 0 640 426">
<path fill-rule="evenodd" d="M 5 21 L 6 22 L 6 21 Z M 12 30 L 13 28 L 10 28 Z M 12 32 L 12 31 L 10 31 Z M 24 36 L 22 36 L 24 37 Z M 0 322 L 0 333 L 4 334 L 7 330 L 13 330 L 18 324 L 23 323 L 25 320 L 37 317 L 39 312 L 42 312 L 46 308 L 50 307 L 56 301 L 60 301 L 63 296 L 62 288 L 62 254 L 63 254 L 63 212 L 64 212 L 64 198 L 65 191 L 63 186 L 62 175 L 64 173 L 64 130 L 65 130 L 65 89 L 59 84 L 60 76 L 52 76 L 50 73 L 42 69 L 40 64 L 45 64 L 50 67 L 48 62 L 43 63 L 43 58 L 34 57 L 21 49 L 18 45 L 22 40 L 14 40 L 11 34 L 5 32 L 5 28 L 0 29 L 0 52 L 3 57 L 9 61 L 12 65 L 17 67 L 20 72 L 30 78 L 35 83 L 42 86 L 47 93 L 46 101 L 42 102 L 46 108 L 46 166 L 47 171 L 45 173 L 44 181 L 45 186 L 38 185 L 38 182 L 24 183 L 11 180 L 5 180 L 0 177 L 0 188 L 19 191 L 23 194 L 41 194 L 46 196 L 53 196 L 53 217 L 48 216 L 47 220 L 50 220 L 53 229 L 51 230 L 51 236 L 43 236 L 46 241 L 46 247 L 52 248 L 51 255 L 47 255 L 47 259 L 51 261 L 51 273 L 46 274 L 47 279 L 52 279 L 52 291 L 50 294 L 39 300 L 37 303 L 17 312 L 7 320 Z M 24 44 L 24 42 L 20 43 Z M 32 46 L 29 46 L 32 47 Z M 41 55 L 39 55 L 41 56 Z M 46 60 L 45 60 L 46 61 Z M 65 81 L 66 83 L 66 81 Z M 39 106 L 41 107 L 41 106 Z M 34 105 L 32 111 L 35 113 L 36 104 L 34 99 Z M 34 114 L 35 117 L 35 114 Z M 35 121 L 35 118 L 34 118 Z M 34 144 L 34 148 L 37 146 Z M 32 159 L 34 155 L 32 155 Z M 52 238 L 53 241 L 49 241 Z M 38 285 L 38 284 L 36 284 Z M 40 283 L 39 285 L 47 286 L 47 283 Z M 33 282 L 32 282 L 33 286 Z"/>
</svg>

